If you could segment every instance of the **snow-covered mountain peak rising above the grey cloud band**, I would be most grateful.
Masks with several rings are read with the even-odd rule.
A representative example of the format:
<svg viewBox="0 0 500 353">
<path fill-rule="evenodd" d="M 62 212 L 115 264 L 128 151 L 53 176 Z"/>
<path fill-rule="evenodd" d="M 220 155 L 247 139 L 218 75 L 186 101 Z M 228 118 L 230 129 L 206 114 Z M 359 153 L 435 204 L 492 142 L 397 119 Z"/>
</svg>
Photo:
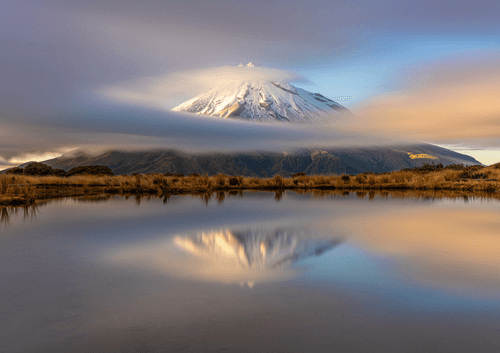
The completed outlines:
<svg viewBox="0 0 500 353">
<path fill-rule="evenodd" d="M 242 75 L 214 80 L 214 87 L 176 106 L 173 111 L 256 122 L 321 123 L 348 110 L 319 93 L 297 88 L 262 74 L 253 63 L 238 66 Z M 252 75 L 254 73 L 254 75 Z"/>
</svg>

